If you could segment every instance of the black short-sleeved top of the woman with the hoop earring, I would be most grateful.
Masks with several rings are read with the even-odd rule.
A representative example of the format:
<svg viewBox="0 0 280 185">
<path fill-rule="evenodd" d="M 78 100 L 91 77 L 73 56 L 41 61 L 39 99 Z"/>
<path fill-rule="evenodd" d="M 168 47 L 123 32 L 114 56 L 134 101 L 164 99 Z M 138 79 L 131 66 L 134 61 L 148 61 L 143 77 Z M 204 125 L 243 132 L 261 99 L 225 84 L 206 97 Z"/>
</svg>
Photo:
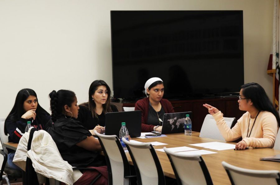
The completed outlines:
<svg viewBox="0 0 280 185">
<path fill-rule="evenodd" d="M 104 156 L 98 151 L 89 151 L 76 144 L 83 141 L 91 133 L 77 120 L 59 117 L 52 127 L 48 128 L 63 158 L 73 167 L 91 167 L 106 165 Z"/>
</svg>

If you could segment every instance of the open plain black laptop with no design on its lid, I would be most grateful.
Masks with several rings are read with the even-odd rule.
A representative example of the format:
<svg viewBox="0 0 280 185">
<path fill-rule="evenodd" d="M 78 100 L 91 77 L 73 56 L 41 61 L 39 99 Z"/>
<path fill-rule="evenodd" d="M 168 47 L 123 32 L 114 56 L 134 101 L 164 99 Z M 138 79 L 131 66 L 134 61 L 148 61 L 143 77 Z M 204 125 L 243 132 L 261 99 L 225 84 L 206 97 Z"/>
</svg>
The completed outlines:
<svg viewBox="0 0 280 185">
<path fill-rule="evenodd" d="M 105 114 L 105 135 L 116 135 L 119 137 L 119 130 L 122 122 L 128 129 L 131 138 L 141 135 L 141 111 L 108 112 Z"/>
</svg>

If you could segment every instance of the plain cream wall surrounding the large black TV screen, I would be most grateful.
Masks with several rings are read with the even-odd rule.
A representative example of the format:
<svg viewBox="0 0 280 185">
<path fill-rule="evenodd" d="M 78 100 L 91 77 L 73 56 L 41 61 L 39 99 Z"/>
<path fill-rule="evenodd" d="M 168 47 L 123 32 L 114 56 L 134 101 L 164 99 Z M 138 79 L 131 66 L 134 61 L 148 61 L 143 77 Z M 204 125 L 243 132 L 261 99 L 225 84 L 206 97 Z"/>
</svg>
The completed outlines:
<svg viewBox="0 0 280 185">
<path fill-rule="evenodd" d="M 93 80 L 112 88 L 110 10 L 243 10 L 245 83 L 272 98 L 273 0 L 0 0 L 0 117 L 22 88 L 47 111 L 52 90 L 71 89 L 81 103 Z"/>
</svg>

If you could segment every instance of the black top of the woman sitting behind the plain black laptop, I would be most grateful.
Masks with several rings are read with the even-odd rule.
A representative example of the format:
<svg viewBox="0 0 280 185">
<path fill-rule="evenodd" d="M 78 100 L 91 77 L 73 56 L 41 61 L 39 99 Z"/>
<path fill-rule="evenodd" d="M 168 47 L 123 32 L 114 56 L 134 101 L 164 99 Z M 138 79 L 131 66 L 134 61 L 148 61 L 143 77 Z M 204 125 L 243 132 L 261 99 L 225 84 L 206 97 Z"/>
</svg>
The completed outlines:
<svg viewBox="0 0 280 185">
<path fill-rule="evenodd" d="M 87 106 L 79 105 L 79 114 L 77 120 L 80 121 L 81 125 L 88 130 L 94 129 L 98 124 L 102 127 L 105 126 L 105 114 L 102 112 L 98 115 L 98 118 L 93 117 L 91 111 Z M 117 107 L 111 105 L 112 112 L 119 112 Z"/>
</svg>

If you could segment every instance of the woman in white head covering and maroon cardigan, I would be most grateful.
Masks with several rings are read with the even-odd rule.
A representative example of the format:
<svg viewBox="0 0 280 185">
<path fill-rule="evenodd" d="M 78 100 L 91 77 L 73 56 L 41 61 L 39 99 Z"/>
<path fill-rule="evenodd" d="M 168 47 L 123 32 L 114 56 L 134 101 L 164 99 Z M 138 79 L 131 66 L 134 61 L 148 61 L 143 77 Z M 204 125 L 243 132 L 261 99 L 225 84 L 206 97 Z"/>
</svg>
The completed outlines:
<svg viewBox="0 0 280 185">
<path fill-rule="evenodd" d="M 163 115 L 174 112 L 171 103 L 162 99 L 163 81 L 157 77 L 148 79 L 145 94 L 147 98 L 138 100 L 135 104 L 135 111 L 142 111 L 141 132 L 161 131 Z"/>
</svg>

